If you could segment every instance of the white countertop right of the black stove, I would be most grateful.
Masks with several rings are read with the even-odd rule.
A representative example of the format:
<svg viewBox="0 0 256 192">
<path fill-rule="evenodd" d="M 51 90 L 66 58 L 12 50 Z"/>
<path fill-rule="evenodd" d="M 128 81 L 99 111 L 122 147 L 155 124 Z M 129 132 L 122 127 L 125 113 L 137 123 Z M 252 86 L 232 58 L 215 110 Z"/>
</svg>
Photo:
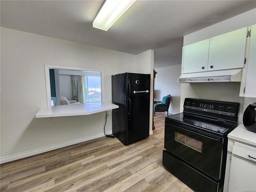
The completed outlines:
<svg viewBox="0 0 256 192">
<path fill-rule="evenodd" d="M 231 131 L 227 137 L 256 146 L 256 133 L 246 130 L 243 124 L 238 125 L 238 127 Z"/>
</svg>

